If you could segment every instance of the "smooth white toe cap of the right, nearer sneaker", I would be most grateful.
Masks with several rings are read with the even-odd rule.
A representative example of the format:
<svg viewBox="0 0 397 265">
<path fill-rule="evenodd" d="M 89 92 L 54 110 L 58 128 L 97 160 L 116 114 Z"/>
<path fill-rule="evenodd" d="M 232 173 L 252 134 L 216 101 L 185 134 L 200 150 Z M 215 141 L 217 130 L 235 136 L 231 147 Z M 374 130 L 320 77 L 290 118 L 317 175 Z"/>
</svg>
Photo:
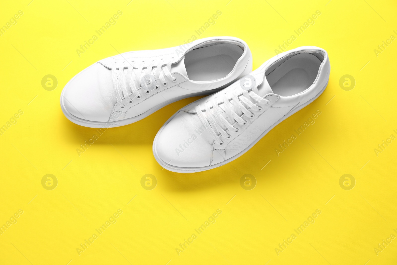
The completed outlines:
<svg viewBox="0 0 397 265">
<path fill-rule="evenodd" d="M 213 141 L 197 114 L 179 111 L 157 135 L 155 156 L 171 166 L 209 166 Z"/>
</svg>

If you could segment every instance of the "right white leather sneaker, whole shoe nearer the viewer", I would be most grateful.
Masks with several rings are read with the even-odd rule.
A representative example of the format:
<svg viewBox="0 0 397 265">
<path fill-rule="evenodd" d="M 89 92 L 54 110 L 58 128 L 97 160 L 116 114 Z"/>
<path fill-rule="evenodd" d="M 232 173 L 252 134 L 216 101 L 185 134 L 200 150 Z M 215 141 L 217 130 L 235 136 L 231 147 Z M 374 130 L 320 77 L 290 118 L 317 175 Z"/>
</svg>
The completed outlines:
<svg viewBox="0 0 397 265">
<path fill-rule="evenodd" d="M 320 96 L 329 76 L 330 61 L 321 48 L 278 54 L 222 91 L 177 111 L 154 138 L 154 157 L 181 173 L 233 161 Z"/>
</svg>

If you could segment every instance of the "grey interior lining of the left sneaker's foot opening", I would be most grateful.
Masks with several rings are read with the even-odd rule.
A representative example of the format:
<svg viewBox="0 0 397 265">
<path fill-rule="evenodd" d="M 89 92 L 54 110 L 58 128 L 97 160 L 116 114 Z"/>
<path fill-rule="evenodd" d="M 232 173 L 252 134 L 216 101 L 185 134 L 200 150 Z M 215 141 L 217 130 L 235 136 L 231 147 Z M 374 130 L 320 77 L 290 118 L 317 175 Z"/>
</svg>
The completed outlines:
<svg viewBox="0 0 397 265">
<path fill-rule="evenodd" d="M 243 48 L 232 43 L 216 43 L 191 50 L 185 54 L 187 76 L 194 81 L 224 78 L 243 52 Z"/>
</svg>

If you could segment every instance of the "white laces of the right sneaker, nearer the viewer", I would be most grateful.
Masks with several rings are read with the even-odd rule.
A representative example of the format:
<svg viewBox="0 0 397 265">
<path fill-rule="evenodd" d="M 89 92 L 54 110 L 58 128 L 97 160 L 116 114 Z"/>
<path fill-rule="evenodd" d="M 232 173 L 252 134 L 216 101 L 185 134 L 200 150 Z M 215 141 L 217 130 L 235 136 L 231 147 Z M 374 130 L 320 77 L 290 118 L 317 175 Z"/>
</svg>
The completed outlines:
<svg viewBox="0 0 397 265">
<path fill-rule="evenodd" d="M 231 102 L 233 103 L 233 107 L 229 102 L 230 93 L 232 93 Z M 269 100 L 264 99 L 258 95 L 258 87 L 255 86 L 250 91 L 243 89 L 243 95 L 240 96 L 237 95 L 237 89 L 233 89 L 233 91 L 224 93 L 223 106 L 227 116 L 227 120 L 221 115 L 222 109 L 220 109 L 220 106 L 218 106 L 218 101 L 215 101 L 216 98 L 212 102 L 212 108 L 210 101 L 206 101 L 206 103 L 204 103 L 205 116 L 202 112 L 200 104 L 196 105 L 195 109 L 198 114 L 198 117 L 200 118 L 204 126 L 206 126 L 206 124 L 209 124 L 209 126 L 206 127 L 209 129 L 209 132 L 216 141 L 216 143 L 218 143 L 219 145 L 224 144 L 224 141 L 222 141 L 222 139 L 220 138 L 221 136 L 227 139 L 231 137 L 231 135 L 226 131 L 235 132 L 235 133 L 239 131 L 239 129 L 235 128 L 233 124 L 246 125 L 247 122 L 242 118 L 243 116 L 254 118 L 255 114 L 253 114 L 250 110 L 255 110 L 255 111 L 262 110 L 260 106 L 257 106 L 256 104 L 252 103 L 250 97 L 258 103 L 262 103 L 262 102 L 266 102 L 266 104 L 270 103 Z M 242 103 L 248 106 L 250 110 L 247 109 Z M 220 104 L 222 104 L 222 102 Z"/>
</svg>

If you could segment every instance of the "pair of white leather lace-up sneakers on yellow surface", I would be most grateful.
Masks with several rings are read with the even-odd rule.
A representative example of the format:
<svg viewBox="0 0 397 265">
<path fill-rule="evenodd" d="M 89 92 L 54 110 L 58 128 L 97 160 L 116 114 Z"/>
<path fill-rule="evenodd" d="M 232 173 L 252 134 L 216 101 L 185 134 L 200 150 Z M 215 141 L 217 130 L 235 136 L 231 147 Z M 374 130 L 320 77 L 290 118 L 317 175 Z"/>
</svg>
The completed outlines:
<svg viewBox="0 0 397 265">
<path fill-rule="evenodd" d="M 199 172 L 243 155 L 314 101 L 328 84 L 330 61 L 322 48 L 303 46 L 251 71 L 251 51 L 235 37 L 126 52 L 73 77 L 62 91 L 61 108 L 75 124 L 110 128 L 180 99 L 209 95 L 178 110 L 153 142 L 153 155 L 164 168 Z"/>
</svg>

